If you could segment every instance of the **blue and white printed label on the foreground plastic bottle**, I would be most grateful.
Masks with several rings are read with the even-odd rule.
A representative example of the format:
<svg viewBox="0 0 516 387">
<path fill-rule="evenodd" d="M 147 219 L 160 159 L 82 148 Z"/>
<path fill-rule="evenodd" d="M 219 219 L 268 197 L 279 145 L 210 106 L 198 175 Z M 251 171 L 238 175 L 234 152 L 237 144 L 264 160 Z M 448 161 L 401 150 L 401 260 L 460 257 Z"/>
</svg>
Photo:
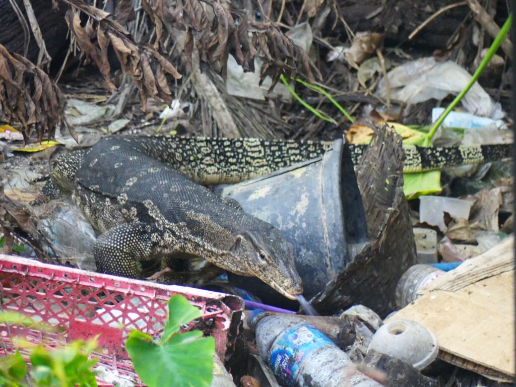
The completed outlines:
<svg viewBox="0 0 516 387">
<path fill-rule="evenodd" d="M 280 384 L 293 387 L 303 361 L 319 348 L 336 346 L 324 333 L 307 324 L 287 330 L 270 350 L 269 366 Z"/>
</svg>

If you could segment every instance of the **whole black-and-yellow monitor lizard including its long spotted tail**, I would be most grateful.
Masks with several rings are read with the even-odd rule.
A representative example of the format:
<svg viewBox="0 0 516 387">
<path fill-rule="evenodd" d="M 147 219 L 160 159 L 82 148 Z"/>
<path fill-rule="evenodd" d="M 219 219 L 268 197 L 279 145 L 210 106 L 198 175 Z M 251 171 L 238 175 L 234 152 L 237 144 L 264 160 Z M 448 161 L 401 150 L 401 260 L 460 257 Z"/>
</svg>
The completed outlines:
<svg viewBox="0 0 516 387">
<path fill-rule="evenodd" d="M 197 184 L 235 183 L 321 156 L 330 141 L 203 137 L 108 137 L 60 157 L 47 197 L 72 193 L 93 227 L 102 272 L 138 277 L 137 261 L 188 252 L 283 294 L 300 293 L 294 253 L 281 232 Z M 350 144 L 354 163 L 365 146 Z M 476 164 L 510 145 L 405 148 L 404 172 Z M 197 182 L 197 183 L 196 183 Z"/>
</svg>

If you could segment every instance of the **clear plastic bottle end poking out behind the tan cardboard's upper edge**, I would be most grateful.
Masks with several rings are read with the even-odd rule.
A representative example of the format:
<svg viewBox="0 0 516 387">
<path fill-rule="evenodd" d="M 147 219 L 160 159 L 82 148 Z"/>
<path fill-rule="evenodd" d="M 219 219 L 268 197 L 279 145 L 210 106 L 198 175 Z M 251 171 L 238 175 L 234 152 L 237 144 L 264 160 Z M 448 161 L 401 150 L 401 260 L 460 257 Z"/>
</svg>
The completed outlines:
<svg viewBox="0 0 516 387">
<path fill-rule="evenodd" d="M 396 306 L 405 308 L 417 299 L 417 291 L 433 280 L 444 275 L 445 271 L 430 265 L 414 265 L 403 273 L 396 286 Z"/>
</svg>

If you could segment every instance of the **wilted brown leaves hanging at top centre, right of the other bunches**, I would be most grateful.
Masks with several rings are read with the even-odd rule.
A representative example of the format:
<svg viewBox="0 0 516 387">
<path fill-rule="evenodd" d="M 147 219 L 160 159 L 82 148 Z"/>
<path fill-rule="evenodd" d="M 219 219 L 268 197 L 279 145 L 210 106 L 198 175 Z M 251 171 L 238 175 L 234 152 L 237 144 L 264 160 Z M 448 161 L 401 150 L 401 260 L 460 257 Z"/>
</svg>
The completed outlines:
<svg viewBox="0 0 516 387">
<path fill-rule="evenodd" d="M 212 18 L 203 4 L 213 10 Z M 278 27 L 271 23 L 248 21 L 245 15 L 224 8 L 214 0 L 142 0 L 142 8 L 156 25 L 155 47 L 162 37 L 163 27 L 172 38 L 174 30 L 186 31 L 184 53 L 189 67 L 195 44 L 201 68 L 203 64 L 218 65 L 224 78 L 230 54 L 244 71 L 254 71 L 254 56 L 257 54 L 264 62 L 261 79 L 270 75 L 272 86 L 281 74 L 290 77 L 301 71 L 311 82 L 314 73 L 319 79 L 321 77 L 307 53 Z"/>
</svg>

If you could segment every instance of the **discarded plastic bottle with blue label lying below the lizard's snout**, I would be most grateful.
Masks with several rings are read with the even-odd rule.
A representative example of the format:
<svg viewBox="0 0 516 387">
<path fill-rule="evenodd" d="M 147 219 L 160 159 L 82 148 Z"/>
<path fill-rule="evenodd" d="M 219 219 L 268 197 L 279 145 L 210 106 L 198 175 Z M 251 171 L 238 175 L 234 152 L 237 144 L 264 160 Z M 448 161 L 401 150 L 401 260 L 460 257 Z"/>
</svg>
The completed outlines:
<svg viewBox="0 0 516 387">
<path fill-rule="evenodd" d="M 285 387 L 380 387 L 360 373 L 347 354 L 302 319 L 254 310 L 247 324 L 260 356 Z"/>
</svg>

